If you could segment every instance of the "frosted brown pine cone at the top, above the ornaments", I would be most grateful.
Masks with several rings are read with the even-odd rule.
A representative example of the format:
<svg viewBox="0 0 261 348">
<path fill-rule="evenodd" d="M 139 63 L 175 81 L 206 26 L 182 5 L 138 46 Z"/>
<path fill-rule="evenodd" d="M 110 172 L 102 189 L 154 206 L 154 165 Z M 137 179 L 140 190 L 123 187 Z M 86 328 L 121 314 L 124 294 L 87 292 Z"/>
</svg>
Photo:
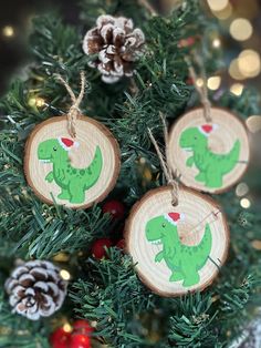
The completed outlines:
<svg viewBox="0 0 261 348">
<path fill-rule="evenodd" d="M 102 80 L 107 83 L 132 76 L 134 62 L 143 53 L 143 31 L 138 28 L 133 30 L 132 19 L 125 17 L 100 16 L 96 24 L 83 40 L 83 51 L 87 55 L 97 55 L 88 65 L 97 68 Z"/>
</svg>

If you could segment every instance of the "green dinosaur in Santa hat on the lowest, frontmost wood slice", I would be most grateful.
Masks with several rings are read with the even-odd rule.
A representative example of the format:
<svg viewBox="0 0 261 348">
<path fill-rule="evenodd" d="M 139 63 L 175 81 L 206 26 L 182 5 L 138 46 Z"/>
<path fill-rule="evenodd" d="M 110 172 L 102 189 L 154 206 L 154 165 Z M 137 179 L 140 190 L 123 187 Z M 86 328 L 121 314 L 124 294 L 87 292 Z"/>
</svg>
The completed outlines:
<svg viewBox="0 0 261 348">
<path fill-rule="evenodd" d="M 165 260 L 171 270 L 169 282 L 182 280 L 184 287 L 199 283 L 198 272 L 208 260 L 212 236 L 209 224 L 205 227 L 201 242 L 196 246 L 186 246 L 180 242 L 177 222 L 180 214 L 169 213 L 152 218 L 146 225 L 146 238 L 153 244 L 161 244 L 163 250 L 155 256 L 155 262 Z"/>
</svg>

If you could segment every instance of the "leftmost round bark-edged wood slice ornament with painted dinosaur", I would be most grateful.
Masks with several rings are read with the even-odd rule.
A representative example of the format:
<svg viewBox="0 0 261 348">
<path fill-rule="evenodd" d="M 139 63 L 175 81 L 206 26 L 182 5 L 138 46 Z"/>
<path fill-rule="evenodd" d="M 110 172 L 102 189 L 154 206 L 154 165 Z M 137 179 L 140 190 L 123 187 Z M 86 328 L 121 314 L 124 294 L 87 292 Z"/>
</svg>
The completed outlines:
<svg viewBox="0 0 261 348">
<path fill-rule="evenodd" d="M 46 162 L 46 163 L 44 163 Z M 76 139 L 67 132 L 67 117 L 40 123 L 25 145 L 24 173 L 45 203 L 86 208 L 103 201 L 115 186 L 121 166 L 113 134 L 86 116 L 76 120 Z"/>
</svg>

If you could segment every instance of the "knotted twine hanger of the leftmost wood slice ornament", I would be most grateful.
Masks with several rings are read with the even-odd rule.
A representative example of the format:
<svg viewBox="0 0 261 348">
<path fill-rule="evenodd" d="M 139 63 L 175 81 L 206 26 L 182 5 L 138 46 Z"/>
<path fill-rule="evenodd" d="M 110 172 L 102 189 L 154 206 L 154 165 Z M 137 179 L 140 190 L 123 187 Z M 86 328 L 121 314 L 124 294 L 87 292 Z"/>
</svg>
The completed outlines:
<svg viewBox="0 0 261 348">
<path fill-rule="evenodd" d="M 72 106 L 69 109 L 67 113 L 67 131 L 73 139 L 76 137 L 76 120 L 81 114 L 80 104 L 83 100 L 84 90 L 86 85 L 86 79 L 83 71 L 81 71 L 80 76 L 81 76 L 81 91 L 79 96 L 76 98 L 67 82 L 60 74 L 55 74 L 56 80 L 60 81 L 65 86 L 72 100 Z"/>
</svg>

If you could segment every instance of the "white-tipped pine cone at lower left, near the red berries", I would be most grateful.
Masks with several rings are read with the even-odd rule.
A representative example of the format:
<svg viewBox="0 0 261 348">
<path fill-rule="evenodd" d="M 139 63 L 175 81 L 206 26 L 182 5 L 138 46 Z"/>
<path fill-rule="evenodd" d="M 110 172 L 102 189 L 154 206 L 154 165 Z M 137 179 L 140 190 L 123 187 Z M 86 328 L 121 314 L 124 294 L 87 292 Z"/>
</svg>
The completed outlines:
<svg viewBox="0 0 261 348">
<path fill-rule="evenodd" d="M 6 282 L 13 313 L 31 320 L 56 311 L 63 304 L 66 287 L 60 268 L 46 260 L 32 260 L 17 267 Z"/>
</svg>

